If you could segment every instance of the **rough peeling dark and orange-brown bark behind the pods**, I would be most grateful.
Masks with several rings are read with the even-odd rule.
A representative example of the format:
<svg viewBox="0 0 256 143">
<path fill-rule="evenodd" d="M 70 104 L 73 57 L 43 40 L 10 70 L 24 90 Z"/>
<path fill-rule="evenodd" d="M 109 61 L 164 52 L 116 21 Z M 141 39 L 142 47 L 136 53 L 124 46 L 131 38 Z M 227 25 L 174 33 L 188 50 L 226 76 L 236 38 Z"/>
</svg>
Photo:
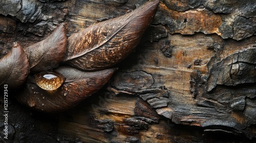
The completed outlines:
<svg viewBox="0 0 256 143">
<path fill-rule="evenodd" d="M 25 48 L 62 22 L 70 36 L 145 2 L 1 1 L 0 57 L 12 42 Z M 74 109 L 39 113 L 9 92 L 8 141 L 255 141 L 255 19 L 254 0 L 163 0 L 136 50 Z M 2 113 L 3 107 L 1 98 Z M 2 129 L 2 115 L 0 121 Z"/>
</svg>

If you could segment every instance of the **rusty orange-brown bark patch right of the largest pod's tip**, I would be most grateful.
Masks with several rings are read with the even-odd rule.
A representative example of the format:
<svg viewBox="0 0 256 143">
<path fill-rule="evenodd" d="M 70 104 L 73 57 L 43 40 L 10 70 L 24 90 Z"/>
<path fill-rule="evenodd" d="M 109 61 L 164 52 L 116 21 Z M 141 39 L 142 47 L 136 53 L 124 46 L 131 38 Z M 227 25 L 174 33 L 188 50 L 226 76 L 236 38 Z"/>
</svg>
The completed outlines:
<svg viewBox="0 0 256 143">
<path fill-rule="evenodd" d="M 220 15 L 217 15 L 207 9 L 191 9 L 184 12 L 178 12 L 168 9 L 164 4 L 159 6 L 160 17 L 172 19 L 173 23 L 167 23 L 172 30 L 171 33 L 194 34 L 203 32 L 205 34 L 216 33 L 221 35 L 219 27 L 222 23 Z M 161 18 L 164 20 L 164 18 Z"/>
</svg>

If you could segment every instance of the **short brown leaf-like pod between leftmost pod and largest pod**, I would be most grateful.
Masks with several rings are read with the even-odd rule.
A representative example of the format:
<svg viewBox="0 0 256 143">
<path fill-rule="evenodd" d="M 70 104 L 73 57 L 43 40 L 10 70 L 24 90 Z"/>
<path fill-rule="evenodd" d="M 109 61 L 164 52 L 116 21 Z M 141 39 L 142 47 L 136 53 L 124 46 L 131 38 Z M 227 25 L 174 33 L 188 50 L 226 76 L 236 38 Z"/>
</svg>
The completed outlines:
<svg viewBox="0 0 256 143">
<path fill-rule="evenodd" d="M 65 24 L 61 24 L 45 40 L 28 46 L 30 71 L 43 71 L 56 66 L 64 57 L 67 50 L 67 36 Z"/>
</svg>

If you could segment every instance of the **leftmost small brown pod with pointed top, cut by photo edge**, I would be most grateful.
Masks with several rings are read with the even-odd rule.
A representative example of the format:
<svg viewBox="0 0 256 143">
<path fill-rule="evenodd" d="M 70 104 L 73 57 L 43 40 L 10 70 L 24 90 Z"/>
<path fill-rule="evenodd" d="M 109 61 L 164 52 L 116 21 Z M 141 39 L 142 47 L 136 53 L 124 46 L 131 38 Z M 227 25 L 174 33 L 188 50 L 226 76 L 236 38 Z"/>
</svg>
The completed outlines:
<svg viewBox="0 0 256 143">
<path fill-rule="evenodd" d="M 11 51 L 0 59 L 0 86 L 5 84 L 8 88 L 18 88 L 29 74 L 29 62 L 23 48 L 14 42 Z"/>
</svg>

